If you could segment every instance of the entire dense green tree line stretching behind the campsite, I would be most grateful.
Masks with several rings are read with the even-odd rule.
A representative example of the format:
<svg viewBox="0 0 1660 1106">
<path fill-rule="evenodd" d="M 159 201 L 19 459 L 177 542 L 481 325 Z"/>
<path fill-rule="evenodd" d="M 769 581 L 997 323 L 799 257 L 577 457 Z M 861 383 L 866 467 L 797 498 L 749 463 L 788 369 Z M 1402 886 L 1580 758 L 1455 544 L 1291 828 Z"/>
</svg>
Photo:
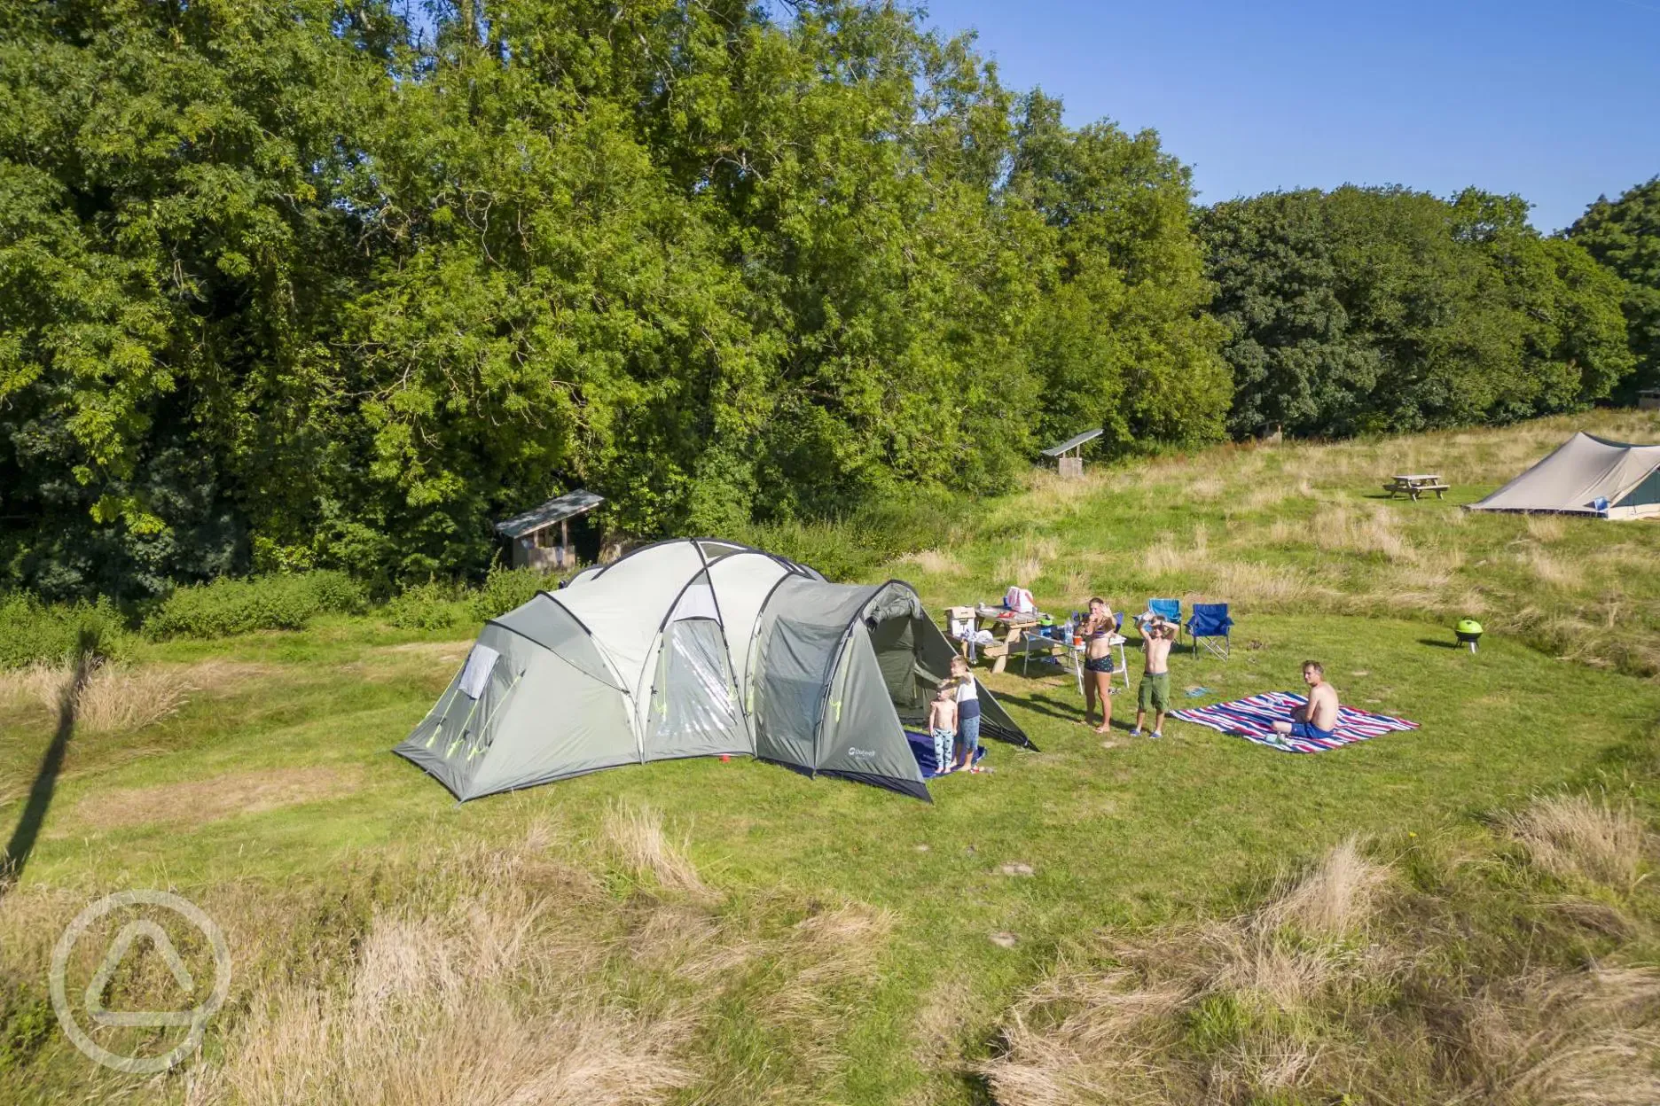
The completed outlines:
<svg viewBox="0 0 1660 1106">
<path fill-rule="evenodd" d="M 46 595 L 480 572 L 576 484 L 722 532 L 1630 363 L 1630 289 L 1521 201 L 1195 212 L 1155 134 L 890 3 L 42 0 L 0 95 L 0 587 Z"/>
</svg>

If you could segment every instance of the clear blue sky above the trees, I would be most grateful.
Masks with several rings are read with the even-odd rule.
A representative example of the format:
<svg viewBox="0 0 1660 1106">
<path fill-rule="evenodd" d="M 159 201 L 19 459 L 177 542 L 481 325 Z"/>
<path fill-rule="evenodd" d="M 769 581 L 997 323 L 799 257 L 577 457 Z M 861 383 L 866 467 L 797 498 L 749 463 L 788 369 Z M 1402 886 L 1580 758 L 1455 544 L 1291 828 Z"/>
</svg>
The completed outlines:
<svg viewBox="0 0 1660 1106">
<path fill-rule="evenodd" d="M 1280 187 L 1521 192 L 1555 230 L 1660 174 L 1660 0 L 933 0 L 1067 123 L 1154 128 L 1202 202 Z"/>
</svg>

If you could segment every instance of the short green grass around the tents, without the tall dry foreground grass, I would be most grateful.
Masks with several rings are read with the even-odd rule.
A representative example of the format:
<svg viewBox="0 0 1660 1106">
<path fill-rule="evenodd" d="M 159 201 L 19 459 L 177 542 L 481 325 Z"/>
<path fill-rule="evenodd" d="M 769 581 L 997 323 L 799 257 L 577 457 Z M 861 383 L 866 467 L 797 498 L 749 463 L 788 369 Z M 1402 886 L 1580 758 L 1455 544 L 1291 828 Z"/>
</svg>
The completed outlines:
<svg viewBox="0 0 1660 1106">
<path fill-rule="evenodd" d="M 1660 438 L 1657 420 L 1607 421 L 1605 431 Z M 1127 736 L 1134 705 L 1119 695 L 1104 748 L 1079 721 L 1069 675 L 1034 665 L 1028 677 L 1016 662 L 983 675 L 1041 753 L 993 745 L 994 771 L 936 783 L 933 804 L 752 761 L 697 759 L 456 806 L 388 749 L 432 705 L 466 642 L 374 615 L 325 617 L 302 633 L 139 645 L 141 665 L 181 667 L 201 686 L 158 725 L 71 741 L 23 887 L 90 899 L 241 882 L 325 895 L 344 866 L 397 871 L 435 846 L 518 839 L 538 821 L 578 842 L 579 856 L 608 804 L 649 804 L 689 834 L 704 877 L 734 904 L 847 899 L 895 915 L 880 983 L 835 1041 L 855 1060 L 813 1086 L 820 1101 L 978 1101 L 974 1079 L 920 1053 L 915 1023 L 935 1016 L 931 1003 L 950 1003 L 956 1060 L 973 1060 L 988 1055 L 1016 992 L 1091 948 L 1102 929 L 1243 909 L 1275 874 L 1350 834 L 1404 842 L 1477 831 L 1487 813 L 1565 784 L 1660 801 L 1628 756 L 1660 718 L 1645 643 L 1660 628 L 1660 524 L 1531 526 L 1456 509 L 1499 483 L 1496 466 L 1542 454 L 1536 439 L 1560 431 L 1218 449 L 1101 471 L 1077 486 L 1038 481 L 979 504 L 933 552 L 863 572 L 911 579 L 936 610 L 1014 579 L 1061 612 L 1089 594 L 1135 610 L 1155 594 L 1230 599 L 1233 655 L 1184 648 L 1172 662 L 1177 705 L 1189 701 L 1187 686 L 1212 691 L 1192 701 L 1295 690 L 1300 662 L 1315 657 L 1346 703 L 1423 723 L 1414 733 L 1316 756 L 1182 723 L 1154 743 Z M 1448 471 L 1454 464 L 1474 473 L 1469 483 Z M 1448 502 L 1373 499 L 1371 476 L 1396 466 L 1448 471 L 1457 491 Z M 1313 527 L 1338 514 L 1350 529 L 1321 544 Z M 1552 565 L 1570 570 L 1552 575 Z M 1451 622 L 1466 612 L 1492 630 L 1477 655 L 1451 648 Z M 7 827 L 51 723 L 35 705 L 0 710 Z M 169 796 L 199 794 L 181 788 L 193 781 L 242 786 L 297 769 L 322 769 L 330 783 L 211 821 Z M 124 814 L 111 816 L 115 808 Z M 1014 862 L 1034 874 L 999 872 Z M 993 943 L 994 932 L 1014 934 L 1014 947 Z M 765 1065 L 780 1046 L 754 1036 L 740 1013 L 719 1025 L 734 1070 Z M 0 1079 L 40 1098 L 93 1079 L 66 1050 L 50 1063 Z"/>
</svg>

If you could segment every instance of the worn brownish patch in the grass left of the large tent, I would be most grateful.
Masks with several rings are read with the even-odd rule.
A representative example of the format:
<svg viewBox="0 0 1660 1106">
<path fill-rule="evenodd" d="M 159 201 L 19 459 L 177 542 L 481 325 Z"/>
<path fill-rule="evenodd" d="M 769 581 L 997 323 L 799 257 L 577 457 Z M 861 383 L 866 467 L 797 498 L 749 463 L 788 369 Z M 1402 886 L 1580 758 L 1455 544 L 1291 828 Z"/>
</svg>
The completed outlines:
<svg viewBox="0 0 1660 1106">
<path fill-rule="evenodd" d="M 90 794 L 80 801 L 75 814 L 93 829 L 149 822 L 199 826 L 237 814 L 332 799 L 357 791 L 360 783 L 362 773 L 339 766 L 229 773 L 211 779 Z"/>
</svg>

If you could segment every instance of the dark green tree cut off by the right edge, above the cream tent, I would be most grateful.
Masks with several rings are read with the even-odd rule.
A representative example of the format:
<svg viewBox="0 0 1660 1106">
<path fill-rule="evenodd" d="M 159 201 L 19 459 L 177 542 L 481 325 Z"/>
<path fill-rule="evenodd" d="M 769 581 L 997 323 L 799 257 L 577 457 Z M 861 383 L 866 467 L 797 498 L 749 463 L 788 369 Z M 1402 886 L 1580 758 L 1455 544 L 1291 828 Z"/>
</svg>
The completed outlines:
<svg viewBox="0 0 1660 1106">
<path fill-rule="evenodd" d="M 1637 371 L 1620 398 L 1660 388 L 1660 176 L 1612 202 L 1599 196 L 1567 237 L 1625 282 L 1625 327 Z"/>
</svg>

